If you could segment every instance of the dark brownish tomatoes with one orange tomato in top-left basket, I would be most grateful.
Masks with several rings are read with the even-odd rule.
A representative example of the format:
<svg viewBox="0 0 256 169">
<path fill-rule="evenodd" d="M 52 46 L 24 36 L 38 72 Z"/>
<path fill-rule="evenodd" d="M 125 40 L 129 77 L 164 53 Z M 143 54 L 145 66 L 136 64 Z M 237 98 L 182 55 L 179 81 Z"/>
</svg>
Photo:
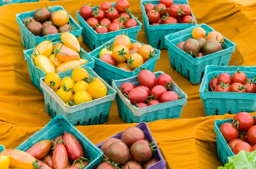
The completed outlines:
<svg viewBox="0 0 256 169">
<path fill-rule="evenodd" d="M 67 11 L 58 10 L 49 12 L 50 9 L 39 8 L 34 13 L 34 18 L 26 17 L 22 22 L 35 36 L 58 34 L 76 30 L 69 23 Z"/>
</svg>

